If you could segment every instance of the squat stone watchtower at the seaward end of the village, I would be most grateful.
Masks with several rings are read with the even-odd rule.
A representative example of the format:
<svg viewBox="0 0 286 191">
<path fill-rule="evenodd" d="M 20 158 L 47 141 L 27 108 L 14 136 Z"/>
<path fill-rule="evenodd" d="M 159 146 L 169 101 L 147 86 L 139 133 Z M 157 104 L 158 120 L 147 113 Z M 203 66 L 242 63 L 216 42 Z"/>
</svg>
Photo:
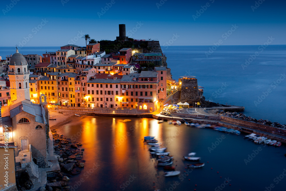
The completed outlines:
<svg viewBox="0 0 286 191">
<path fill-rule="evenodd" d="M 178 88 L 181 89 L 180 100 L 199 97 L 198 80 L 196 76 L 180 76 Z"/>
</svg>

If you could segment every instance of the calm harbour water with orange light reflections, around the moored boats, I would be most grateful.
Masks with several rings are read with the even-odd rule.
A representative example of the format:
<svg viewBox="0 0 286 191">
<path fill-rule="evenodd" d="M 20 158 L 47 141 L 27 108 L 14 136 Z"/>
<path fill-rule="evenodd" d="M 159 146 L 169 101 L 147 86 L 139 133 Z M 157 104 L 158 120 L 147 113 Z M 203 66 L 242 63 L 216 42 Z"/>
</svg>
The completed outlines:
<svg viewBox="0 0 286 191">
<path fill-rule="evenodd" d="M 271 190 L 285 190 L 284 146 L 257 145 L 243 139 L 243 134 L 166 122 L 158 124 L 156 119 L 128 118 L 132 121 L 119 122 L 122 119 L 74 117 L 68 125 L 57 127 L 59 134 L 81 142 L 80 148 L 85 149 L 83 159 L 86 163 L 81 173 L 72 177 L 68 175 L 72 191 L 264 191 L 271 184 L 274 186 Z M 164 177 L 162 167 L 156 170 L 156 163 L 142 140 L 144 136 L 156 136 L 162 146 L 168 148 L 170 155 L 174 156 L 172 166 L 181 171 L 181 176 Z M 183 160 L 182 156 L 190 152 L 202 157 L 200 162 L 205 162 L 205 166 L 188 172 L 187 164 L 192 162 Z"/>
</svg>

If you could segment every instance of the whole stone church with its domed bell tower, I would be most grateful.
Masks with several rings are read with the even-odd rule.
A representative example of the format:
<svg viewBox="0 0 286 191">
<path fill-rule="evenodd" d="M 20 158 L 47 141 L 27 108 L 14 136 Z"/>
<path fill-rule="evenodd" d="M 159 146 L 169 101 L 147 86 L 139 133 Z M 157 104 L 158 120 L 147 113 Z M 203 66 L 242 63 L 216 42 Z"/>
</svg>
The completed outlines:
<svg viewBox="0 0 286 191">
<path fill-rule="evenodd" d="M 18 152 L 29 150 L 32 160 L 41 168 L 47 167 L 49 113 L 45 95 L 40 104 L 30 101 L 28 64 L 22 54 L 16 53 L 9 63 L 11 99 L 1 108 L 2 125 L 9 127 L 9 143 L 17 145 Z"/>
</svg>

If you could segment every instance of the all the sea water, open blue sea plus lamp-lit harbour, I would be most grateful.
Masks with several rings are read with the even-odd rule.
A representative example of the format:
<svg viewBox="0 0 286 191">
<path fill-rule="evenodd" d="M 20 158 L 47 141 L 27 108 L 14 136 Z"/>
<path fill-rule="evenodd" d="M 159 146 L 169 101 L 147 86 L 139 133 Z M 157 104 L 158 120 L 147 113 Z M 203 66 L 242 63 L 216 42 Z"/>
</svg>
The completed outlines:
<svg viewBox="0 0 286 191">
<path fill-rule="evenodd" d="M 244 106 L 246 115 L 286 124 L 285 45 L 268 46 L 262 52 L 259 45 L 220 46 L 212 53 L 209 48 L 162 47 L 173 79 L 196 76 L 206 100 Z M 23 47 L 19 52 L 43 54 L 57 49 Z M 14 47 L 0 48 L 1 56 L 14 52 Z M 124 119 L 131 121 L 120 122 Z M 75 167 L 80 174 L 65 174 L 71 179 L 71 191 L 282 191 L 286 187 L 285 145 L 257 145 L 244 139 L 245 133 L 233 135 L 166 121 L 158 124 L 151 118 L 85 115 L 51 129 L 84 148 L 85 166 Z M 164 176 L 165 170 L 157 167 L 144 136 L 155 136 L 167 148 L 179 176 Z M 184 160 L 190 152 L 201 157 L 204 167 L 187 168 L 187 164 L 197 163 Z"/>
</svg>

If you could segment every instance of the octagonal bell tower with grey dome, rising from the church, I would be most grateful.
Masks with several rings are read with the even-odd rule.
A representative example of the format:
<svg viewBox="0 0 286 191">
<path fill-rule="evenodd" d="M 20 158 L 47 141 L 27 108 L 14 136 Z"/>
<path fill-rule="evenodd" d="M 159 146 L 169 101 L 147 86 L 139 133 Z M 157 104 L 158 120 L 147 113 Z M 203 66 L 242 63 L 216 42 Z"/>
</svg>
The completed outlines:
<svg viewBox="0 0 286 191">
<path fill-rule="evenodd" d="M 16 47 L 17 48 L 17 47 Z M 28 63 L 24 56 L 16 53 L 10 59 L 9 63 L 9 81 L 11 90 L 11 100 L 8 105 L 12 105 L 21 101 L 31 103 L 29 90 L 29 75 Z"/>
</svg>

